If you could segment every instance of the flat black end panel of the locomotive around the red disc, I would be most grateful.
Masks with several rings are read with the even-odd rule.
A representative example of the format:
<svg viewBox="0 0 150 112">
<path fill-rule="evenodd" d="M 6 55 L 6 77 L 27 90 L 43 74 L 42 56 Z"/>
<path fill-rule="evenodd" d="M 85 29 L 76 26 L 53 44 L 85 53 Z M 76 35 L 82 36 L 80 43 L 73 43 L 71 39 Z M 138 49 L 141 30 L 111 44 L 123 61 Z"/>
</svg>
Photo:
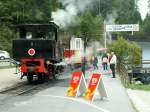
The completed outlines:
<svg viewBox="0 0 150 112">
<path fill-rule="evenodd" d="M 13 40 L 13 58 L 20 61 L 22 58 L 55 58 L 54 40 Z M 34 55 L 29 50 L 34 49 Z M 30 51 L 33 52 L 33 51 Z"/>
</svg>

